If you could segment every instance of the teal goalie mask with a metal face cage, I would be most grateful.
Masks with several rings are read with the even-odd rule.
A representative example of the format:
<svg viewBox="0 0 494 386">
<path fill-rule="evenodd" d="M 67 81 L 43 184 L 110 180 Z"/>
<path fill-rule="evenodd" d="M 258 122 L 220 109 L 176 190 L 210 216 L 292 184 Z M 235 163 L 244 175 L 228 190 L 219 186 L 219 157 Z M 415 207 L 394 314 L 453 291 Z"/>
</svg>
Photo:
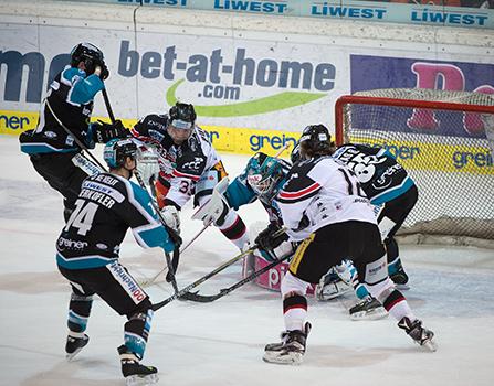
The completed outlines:
<svg viewBox="0 0 494 386">
<path fill-rule="evenodd" d="M 271 202 L 282 187 L 286 171 L 282 162 L 259 152 L 249 160 L 246 182 L 263 201 Z"/>
</svg>

